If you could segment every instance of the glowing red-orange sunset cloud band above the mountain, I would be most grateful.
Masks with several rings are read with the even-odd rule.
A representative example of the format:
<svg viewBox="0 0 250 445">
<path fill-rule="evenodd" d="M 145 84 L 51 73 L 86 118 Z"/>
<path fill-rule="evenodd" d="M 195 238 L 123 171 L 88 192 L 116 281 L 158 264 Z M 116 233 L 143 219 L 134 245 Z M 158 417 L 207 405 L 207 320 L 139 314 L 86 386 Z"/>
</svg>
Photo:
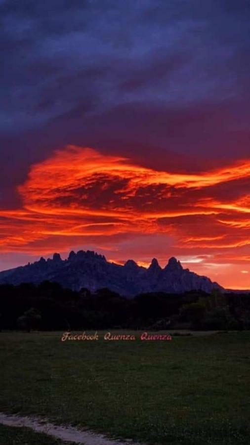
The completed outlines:
<svg viewBox="0 0 250 445">
<path fill-rule="evenodd" d="M 0 250 L 46 254 L 91 244 L 119 261 L 133 240 L 129 256 L 147 264 L 151 254 L 161 260 L 166 242 L 165 260 L 176 255 L 222 285 L 250 287 L 249 185 L 250 160 L 194 175 L 69 146 L 32 166 L 18 187 L 22 209 L 0 211 Z M 155 252 L 141 247 L 143 236 Z"/>
</svg>

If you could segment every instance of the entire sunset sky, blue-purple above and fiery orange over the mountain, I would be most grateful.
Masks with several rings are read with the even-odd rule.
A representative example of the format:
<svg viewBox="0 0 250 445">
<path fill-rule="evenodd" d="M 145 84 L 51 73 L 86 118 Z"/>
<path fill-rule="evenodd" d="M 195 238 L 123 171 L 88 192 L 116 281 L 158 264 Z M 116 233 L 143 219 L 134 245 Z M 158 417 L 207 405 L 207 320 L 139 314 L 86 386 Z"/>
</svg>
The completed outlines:
<svg viewBox="0 0 250 445">
<path fill-rule="evenodd" d="M 248 0 L 0 0 L 0 270 L 171 256 L 250 289 Z"/>
</svg>

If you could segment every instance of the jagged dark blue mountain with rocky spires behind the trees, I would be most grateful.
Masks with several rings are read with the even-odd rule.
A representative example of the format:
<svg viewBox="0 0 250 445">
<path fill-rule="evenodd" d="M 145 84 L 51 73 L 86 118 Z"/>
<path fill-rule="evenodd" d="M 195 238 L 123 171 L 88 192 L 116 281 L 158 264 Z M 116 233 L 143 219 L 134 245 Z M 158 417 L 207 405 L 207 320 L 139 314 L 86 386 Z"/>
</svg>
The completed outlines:
<svg viewBox="0 0 250 445">
<path fill-rule="evenodd" d="M 83 250 L 70 252 L 66 260 L 55 253 L 52 259 L 41 258 L 33 264 L 0 272 L 0 284 L 38 284 L 44 280 L 77 291 L 83 287 L 90 291 L 108 287 L 127 297 L 145 292 L 203 290 L 209 293 L 213 288 L 223 289 L 206 276 L 183 269 L 175 258 L 170 258 L 164 268 L 155 258 L 148 268 L 138 266 L 133 260 L 121 266 L 109 263 L 103 255 Z"/>
</svg>

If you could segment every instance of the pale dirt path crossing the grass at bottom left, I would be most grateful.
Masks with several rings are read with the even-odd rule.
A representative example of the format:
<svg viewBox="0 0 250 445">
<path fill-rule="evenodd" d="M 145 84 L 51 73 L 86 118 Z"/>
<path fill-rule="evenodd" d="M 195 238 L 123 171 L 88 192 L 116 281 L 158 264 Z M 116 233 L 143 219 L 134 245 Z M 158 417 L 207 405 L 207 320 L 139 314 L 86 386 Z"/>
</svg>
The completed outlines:
<svg viewBox="0 0 250 445">
<path fill-rule="evenodd" d="M 0 413 L 0 423 L 12 427 L 27 427 L 38 433 L 45 433 L 65 442 L 75 442 L 84 445 L 139 445 L 131 441 L 117 441 L 107 439 L 92 431 L 81 431 L 72 427 L 56 426 L 46 420 L 35 417 L 22 417 Z"/>
</svg>

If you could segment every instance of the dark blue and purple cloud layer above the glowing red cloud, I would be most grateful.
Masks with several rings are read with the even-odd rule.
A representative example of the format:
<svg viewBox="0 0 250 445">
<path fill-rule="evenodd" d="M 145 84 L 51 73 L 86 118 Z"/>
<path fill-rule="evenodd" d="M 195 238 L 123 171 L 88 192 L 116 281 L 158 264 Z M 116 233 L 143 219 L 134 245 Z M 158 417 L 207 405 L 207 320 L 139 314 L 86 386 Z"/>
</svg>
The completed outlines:
<svg viewBox="0 0 250 445">
<path fill-rule="evenodd" d="M 193 170 L 245 157 L 249 18 L 247 0 L 0 1 L 0 196 L 65 143 Z"/>
</svg>

